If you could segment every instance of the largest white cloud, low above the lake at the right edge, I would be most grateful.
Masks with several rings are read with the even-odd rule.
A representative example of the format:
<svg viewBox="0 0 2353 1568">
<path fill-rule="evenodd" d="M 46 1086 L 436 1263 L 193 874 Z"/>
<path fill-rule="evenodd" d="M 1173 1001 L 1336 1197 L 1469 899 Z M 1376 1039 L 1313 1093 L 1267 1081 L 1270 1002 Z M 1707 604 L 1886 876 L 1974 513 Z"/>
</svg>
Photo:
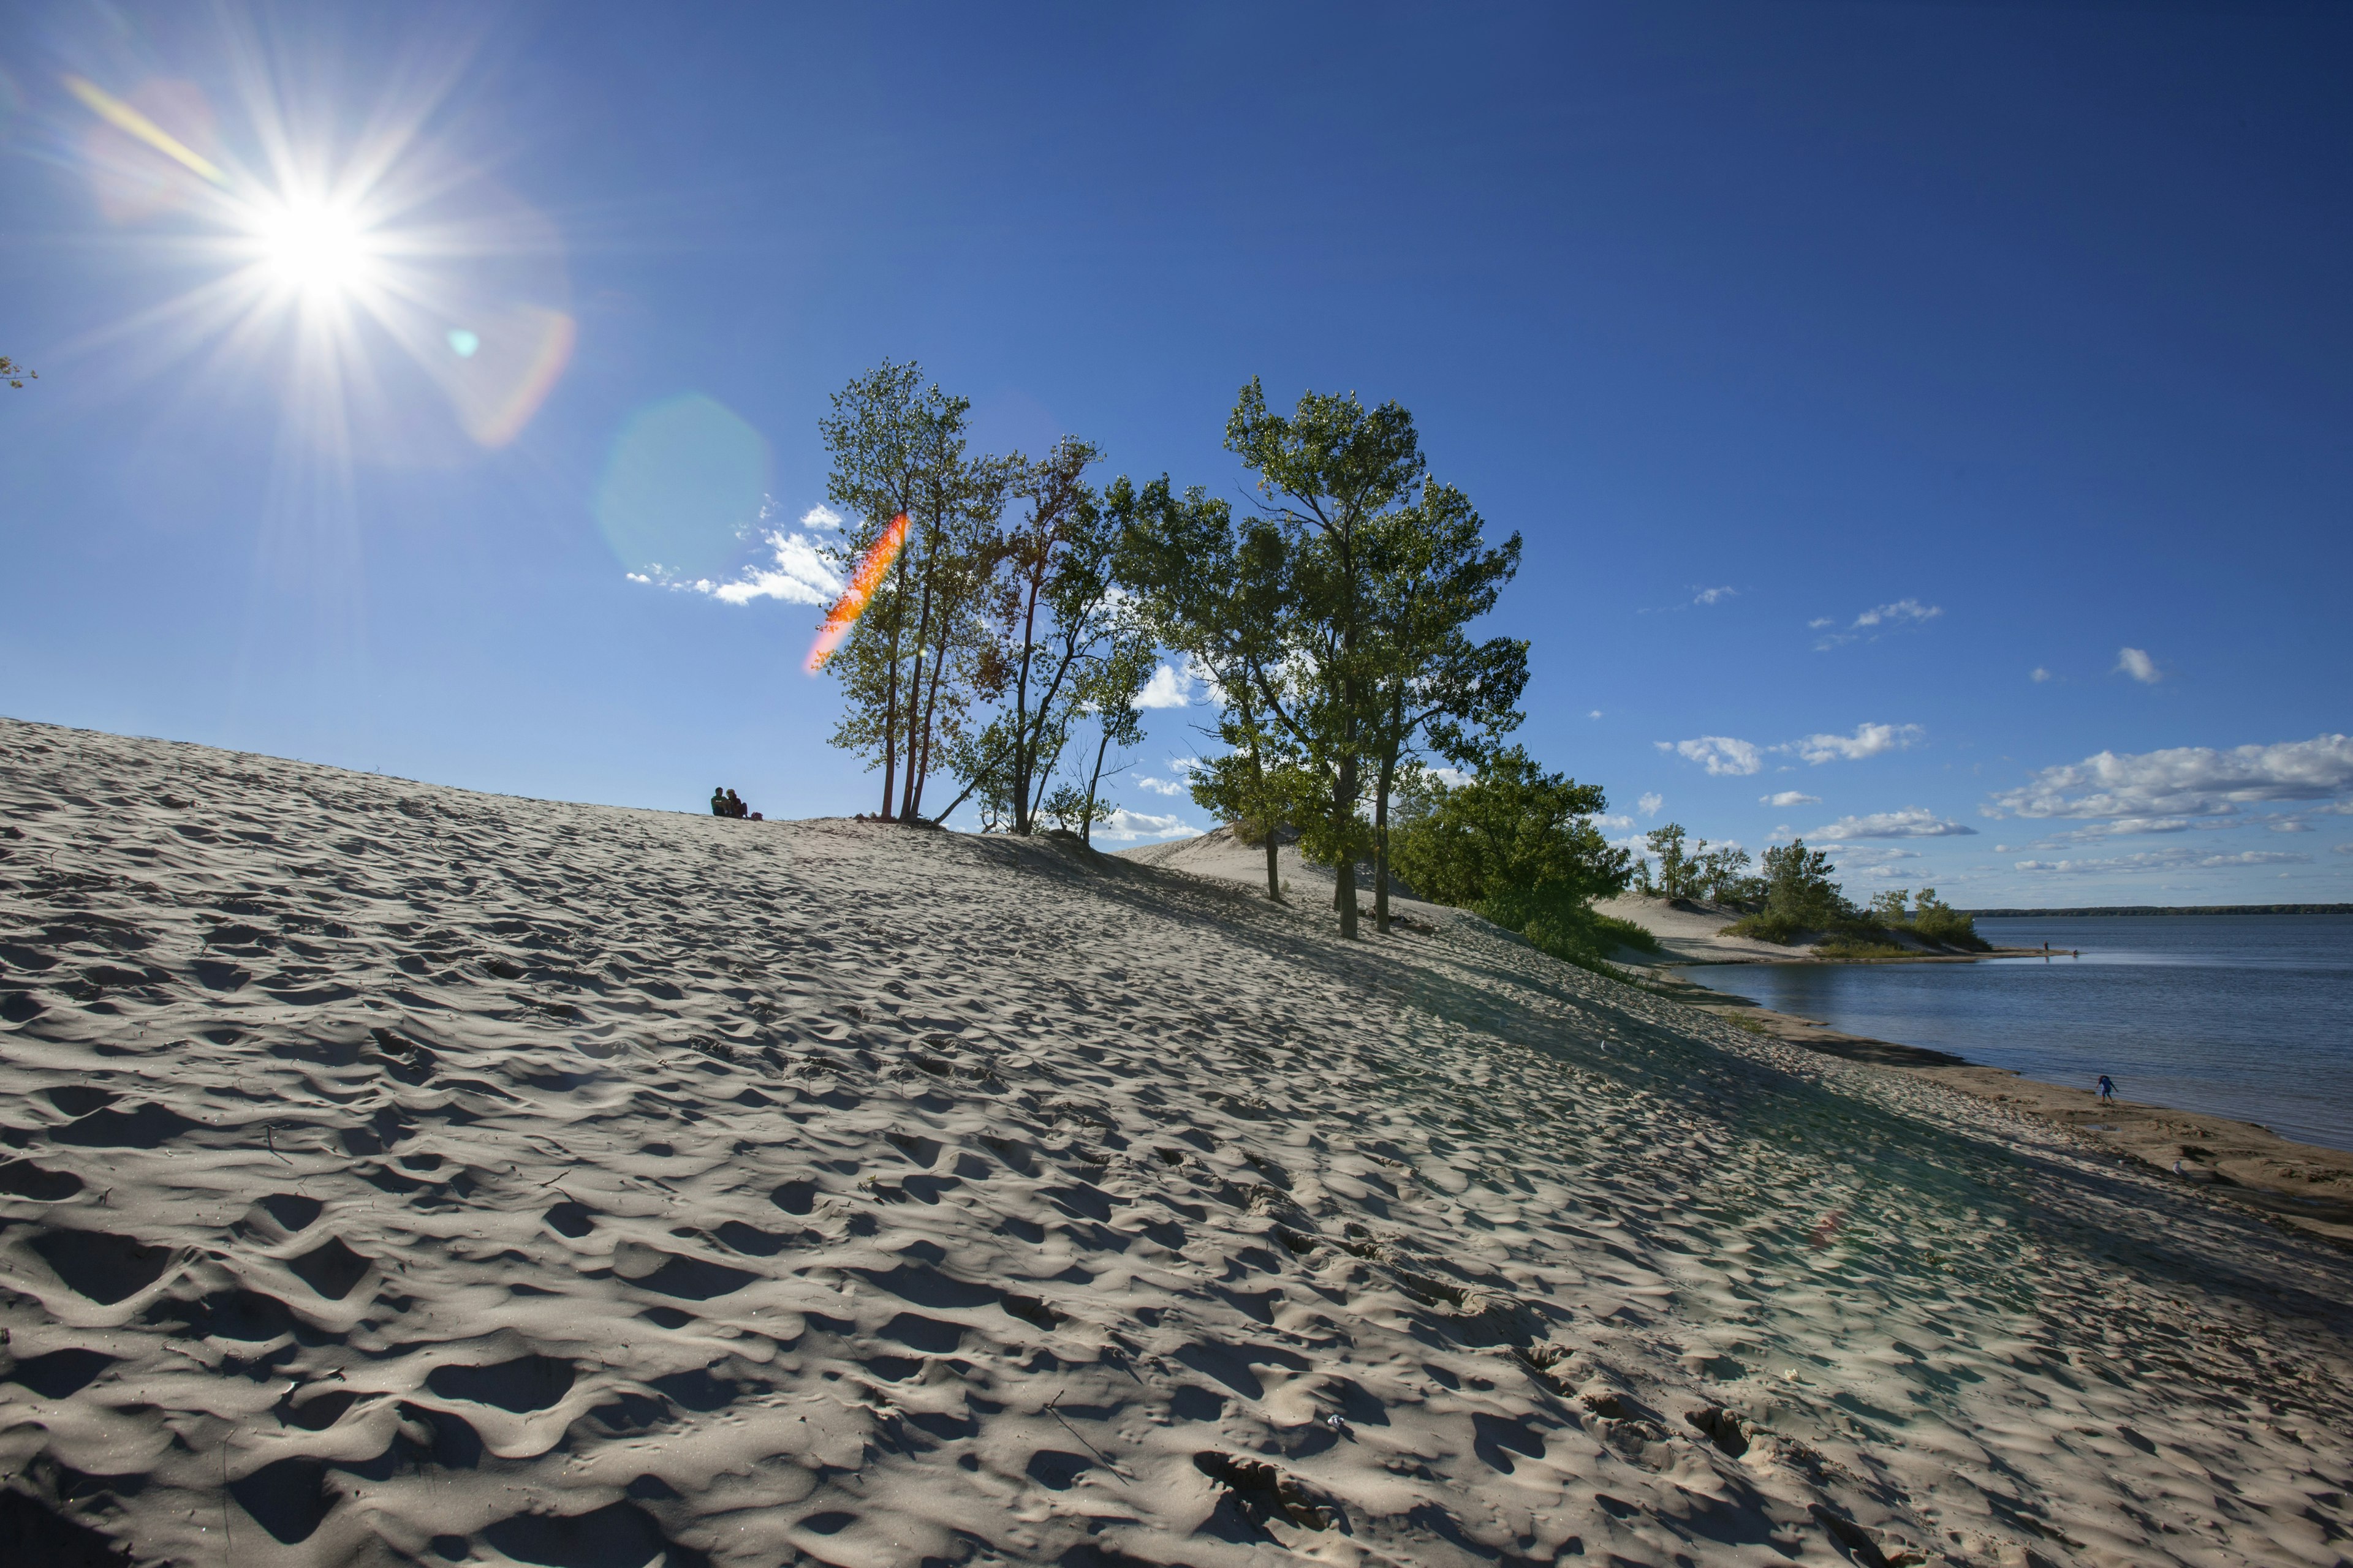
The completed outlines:
<svg viewBox="0 0 2353 1568">
<path fill-rule="evenodd" d="M 2012 816 L 2184 818 L 2231 816 L 2271 799 L 2353 795 L 2353 736 L 2315 736 L 2278 745 L 2177 745 L 2162 752 L 2099 752 L 2042 769 L 2019 790 L 1993 797 Z M 2141 832 L 2165 832 L 2141 827 Z"/>
</svg>

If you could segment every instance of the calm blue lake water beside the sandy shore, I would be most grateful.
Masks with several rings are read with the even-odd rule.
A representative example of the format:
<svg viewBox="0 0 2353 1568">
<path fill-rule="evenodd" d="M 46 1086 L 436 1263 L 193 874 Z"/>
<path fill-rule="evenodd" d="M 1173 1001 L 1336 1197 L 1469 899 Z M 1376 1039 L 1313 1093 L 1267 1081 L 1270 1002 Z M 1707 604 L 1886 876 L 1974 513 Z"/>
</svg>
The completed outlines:
<svg viewBox="0 0 2353 1568">
<path fill-rule="evenodd" d="M 2353 1150 L 2353 914 L 1981 919 L 1979 964 L 1694 964 L 1777 1013 Z"/>
</svg>

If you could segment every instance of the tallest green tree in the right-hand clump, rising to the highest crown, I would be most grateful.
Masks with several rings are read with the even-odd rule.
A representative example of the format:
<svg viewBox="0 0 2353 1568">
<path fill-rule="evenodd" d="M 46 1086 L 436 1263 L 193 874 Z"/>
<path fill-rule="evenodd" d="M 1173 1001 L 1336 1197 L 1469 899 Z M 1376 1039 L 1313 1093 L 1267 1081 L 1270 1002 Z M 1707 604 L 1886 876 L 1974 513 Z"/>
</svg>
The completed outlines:
<svg viewBox="0 0 2353 1568">
<path fill-rule="evenodd" d="M 1355 863 L 1372 837 L 1358 816 L 1379 715 L 1372 658 L 1374 534 L 1424 477 L 1414 418 L 1395 402 L 1304 393 L 1273 414 L 1252 376 L 1226 421 L 1226 449 L 1257 475 L 1261 522 L 1282 550 L 1280 661 L 1252 661 L 1254 701 L 1322 783 L 1301 849 L 1337 867 L 1341 938 L 1355 938 Z"/>
</svg>

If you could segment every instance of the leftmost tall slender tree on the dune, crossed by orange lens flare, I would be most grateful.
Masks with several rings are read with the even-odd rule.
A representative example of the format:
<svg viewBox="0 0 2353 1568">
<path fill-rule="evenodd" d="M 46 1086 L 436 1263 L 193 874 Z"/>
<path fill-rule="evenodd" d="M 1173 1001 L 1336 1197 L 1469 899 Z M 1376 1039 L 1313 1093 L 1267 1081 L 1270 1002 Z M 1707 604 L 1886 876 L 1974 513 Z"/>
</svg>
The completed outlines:
<svg viewBox="0 0 2353 1568">
<path fill-rule="evenodd" d="M 826 663 L 849 708 L 833 745 L 882 769 L 882 818 L 922 820 L 922 790 L 986 696 L 979 607 L 995 564 L 995 524 L 1012 477 L 965 454 L 965 397 L 922 386 L 915 364 L 882 362 L 833 395 L 819 421 L 833 470 L 826 494 L 854 517 L 833 545 L 847 571 L 899 515 L 906 543 Z"/>
</svg>

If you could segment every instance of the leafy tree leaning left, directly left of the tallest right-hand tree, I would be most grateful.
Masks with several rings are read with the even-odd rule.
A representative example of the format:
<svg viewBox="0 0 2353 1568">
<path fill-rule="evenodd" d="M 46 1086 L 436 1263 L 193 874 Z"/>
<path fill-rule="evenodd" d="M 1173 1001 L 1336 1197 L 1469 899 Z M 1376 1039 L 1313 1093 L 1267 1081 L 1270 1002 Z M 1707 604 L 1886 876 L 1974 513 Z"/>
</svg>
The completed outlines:
<svg viewBox="0 0 2353 1568">
<path fill-rule="evenodd" d="M 1228 752 L 1193 773 L 1193 802 L 1266 846 L 1266 896 L 1282 903 L 1275 830 L 1297 825 L 1311 795 L 1289 731 L 1261 698 L 1294 668 L 1282 642 L 1285 541 L 1266 520 L 1238 527 L 1233 508 L 1200 487 L 1179 496 L 1167 475 L 1141 489 L 1122 475 L 1104 508 L 1118 520 L 1113 574 L 1136 595 L 1144 630 L 1207 677 L 1219 705 L 1214 733 Z"/>
</svg>

